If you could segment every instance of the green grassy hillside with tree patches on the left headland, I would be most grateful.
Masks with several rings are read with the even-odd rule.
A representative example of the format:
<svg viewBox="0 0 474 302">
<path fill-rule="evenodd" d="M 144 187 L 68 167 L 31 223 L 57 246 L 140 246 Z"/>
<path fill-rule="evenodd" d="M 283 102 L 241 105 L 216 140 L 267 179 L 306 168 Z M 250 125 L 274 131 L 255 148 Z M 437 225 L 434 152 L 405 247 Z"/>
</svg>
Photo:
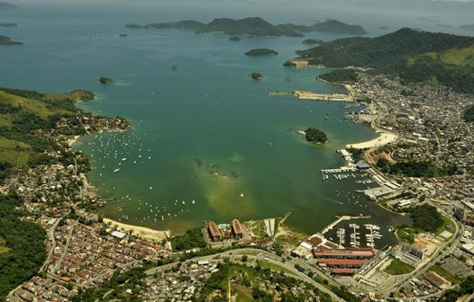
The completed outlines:
<svg viewBox="0 0 474 302">
<path fill-rule="evenodd" d="M 87 91 L 71 93 L 38 93 L 29 90 L 0 88 L 0 182 L 14 168 L 51 164 L 55 159 L 44 150 L 58 150 L 50 139 L 33 135 L 33 130 L 50 131 L 61 117 L 68 116 L 77 125 L 75 102 L 91 100 Z M 84 129 L 63 129 L 62 134 L 80 135 Z M 71 163 L 67 155 L 59 160 Z"/>
</svg>

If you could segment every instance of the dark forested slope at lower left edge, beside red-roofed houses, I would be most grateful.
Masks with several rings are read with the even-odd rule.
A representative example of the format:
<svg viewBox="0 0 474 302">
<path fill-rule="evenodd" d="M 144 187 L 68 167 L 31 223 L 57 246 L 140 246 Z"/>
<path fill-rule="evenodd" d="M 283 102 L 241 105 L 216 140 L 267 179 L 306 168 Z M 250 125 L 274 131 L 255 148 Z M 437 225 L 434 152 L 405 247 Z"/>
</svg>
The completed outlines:
<svg viewBox="0 0 474 302">
<path fill-rule="evenodd" d="M 22 219 L 16 208 L 23 200 L 16 194 L 0 195 L 0 300 L 24 280 L 30 279 L 46 259 L 46 232 Z"/>
</svg>

